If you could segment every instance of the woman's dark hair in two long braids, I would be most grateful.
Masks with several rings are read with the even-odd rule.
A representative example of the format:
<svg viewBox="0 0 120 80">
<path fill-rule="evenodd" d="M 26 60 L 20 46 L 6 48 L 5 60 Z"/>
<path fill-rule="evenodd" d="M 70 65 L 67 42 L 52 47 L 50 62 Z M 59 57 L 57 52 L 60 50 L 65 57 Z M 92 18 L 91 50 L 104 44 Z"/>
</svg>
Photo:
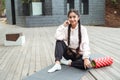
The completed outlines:
<svg viewBox="0 0 120 80">
<path fill-rule="evenodd" d="M 76 15 L 78 15 L 79 17 L 80 17 L 80 15 L 79 15 L 79 12 L 78 12 L 78 10 L 75 10 L 75 9 L 71 9 L 69 12 L 68 12 L 68 17 L 69 17 L 69 14 L 71 13 L 71 12 L 74 12 Z M 68 47 L 69 47 L 69 45 L 70 45 L 70 32 L 71 32 L 71 24 L 68 26 Z M 79 42 L 78 42 L 78 47 L 76 48 L 76 53 L 77 54 L 79 54 L 79 51 L 80 51 L 80 44 L 81 44 L 81 23 L 80 23 L 80 19 L 78 20 L 78 38 L 79 38 Z"/>
</svg>

